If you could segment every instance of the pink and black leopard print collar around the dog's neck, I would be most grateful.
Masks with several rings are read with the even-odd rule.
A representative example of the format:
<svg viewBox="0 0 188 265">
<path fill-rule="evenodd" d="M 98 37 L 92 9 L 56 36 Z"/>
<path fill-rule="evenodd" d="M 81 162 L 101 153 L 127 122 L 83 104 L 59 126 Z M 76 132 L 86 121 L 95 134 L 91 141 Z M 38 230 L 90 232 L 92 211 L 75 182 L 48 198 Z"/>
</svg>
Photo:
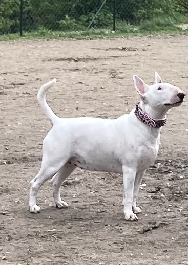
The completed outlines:
<svg viewBox="0 0 188 265">
<path fill-rule="evenodd" d="M 140 121 L 152 128 L 160 128 L 166 124 L 166 116 L 162 120 L 154 120 L 148 114 L 144 113 L 138 104 L 136 104 L 135 115 Z"/>
</svg>

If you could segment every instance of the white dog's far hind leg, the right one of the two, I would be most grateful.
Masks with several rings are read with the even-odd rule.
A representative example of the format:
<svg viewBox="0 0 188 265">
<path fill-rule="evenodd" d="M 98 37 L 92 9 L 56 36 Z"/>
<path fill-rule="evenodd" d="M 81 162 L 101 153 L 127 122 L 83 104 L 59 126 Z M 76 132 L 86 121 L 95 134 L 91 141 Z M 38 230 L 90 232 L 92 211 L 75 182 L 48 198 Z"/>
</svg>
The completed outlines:
<svg viewBox="0 0 188 265">
<path fill-rule="evenodd" d="M 66 178 L 74 171 L 76 166 L 67 163 L 53 176 L 52 187 L 53 197 L 57 208 L 67 208 L 68 204 L 61 200 L 60 187 Z"/>
</svg>

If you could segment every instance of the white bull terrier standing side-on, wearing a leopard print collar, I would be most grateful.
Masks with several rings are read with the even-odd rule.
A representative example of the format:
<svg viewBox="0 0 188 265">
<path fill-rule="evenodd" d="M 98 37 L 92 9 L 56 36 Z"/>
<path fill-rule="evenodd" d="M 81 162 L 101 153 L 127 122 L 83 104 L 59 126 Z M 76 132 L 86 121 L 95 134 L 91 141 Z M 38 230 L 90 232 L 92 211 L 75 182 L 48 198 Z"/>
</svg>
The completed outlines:
<svg viewBox="0 0 188 265">
<path fill-rule="evenodd" d="M 52 179 L 57 208 L 67 208 L 59 189 L 77 168 L 123 173 L 123 212 L 125 220 L 137 220 L 141 209 L 136 198 L 143 175 L 154 162 L 166 112 L 180 106 L 185 94 L 177 86 L 163 83 L 155 72 L 155 83 L 147 85 L 137 75 L 134 86 L 140 103 L 129 114 L 117 119 L 91 117 L 59 118 L 46 102 L 46 92 L 56 79 L 40 87 L 37 99 L 52 122 L 43 141 L 43 159 L 39 173 L 30 182 L 29 211 L 40 212 L 36 195 L 47 180 Z"/>
</svg>

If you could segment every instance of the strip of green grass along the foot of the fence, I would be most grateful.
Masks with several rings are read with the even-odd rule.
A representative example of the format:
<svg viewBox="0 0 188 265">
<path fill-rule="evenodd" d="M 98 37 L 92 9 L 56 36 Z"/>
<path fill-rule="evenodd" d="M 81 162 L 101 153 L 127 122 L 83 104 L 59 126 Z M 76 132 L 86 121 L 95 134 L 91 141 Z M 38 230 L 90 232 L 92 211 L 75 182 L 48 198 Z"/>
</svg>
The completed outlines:
<svg viewBox="0 0 188 265">
<path fill-rule="evenodd" d="M 95 38 L 115 38 L 128 36 L 143 35 L 175 35 L 187 34 L 187 30 L 182 30 L 174 21 L 169 19 L 155 19 L 153 21 L 145 21 L 141 25 L 135 27 L 125 23 L 117 23 L 116 31 L 111 29 L 90 29 L 88 31 L 51 31 L 47 29 L 39 29 L 36 32 L 24 32 L 23 36 L 19 34 L 0 35 L 0 41 L 16 40 L 16 39 L 95 39 Z"/>
</svg>

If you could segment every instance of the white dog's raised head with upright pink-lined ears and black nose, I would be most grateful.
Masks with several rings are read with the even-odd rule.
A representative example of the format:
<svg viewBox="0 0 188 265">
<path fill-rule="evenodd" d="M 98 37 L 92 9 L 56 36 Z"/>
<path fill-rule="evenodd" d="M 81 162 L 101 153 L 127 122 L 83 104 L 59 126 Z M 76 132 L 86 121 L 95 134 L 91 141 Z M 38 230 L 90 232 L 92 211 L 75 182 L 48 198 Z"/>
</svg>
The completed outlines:
<svg viewBox="0 0 188 265">
<path fill-rule="evenodd" d="M 155 109 L 156 112 L 166 113 L 170 108 L 180 106 L 185 94 L 179 87 L 163 83 L 155 72 L 155 84 L 147 85 L 137 75 L 133 76 L 135 89 L 144 104 Z"/>
</svg>

